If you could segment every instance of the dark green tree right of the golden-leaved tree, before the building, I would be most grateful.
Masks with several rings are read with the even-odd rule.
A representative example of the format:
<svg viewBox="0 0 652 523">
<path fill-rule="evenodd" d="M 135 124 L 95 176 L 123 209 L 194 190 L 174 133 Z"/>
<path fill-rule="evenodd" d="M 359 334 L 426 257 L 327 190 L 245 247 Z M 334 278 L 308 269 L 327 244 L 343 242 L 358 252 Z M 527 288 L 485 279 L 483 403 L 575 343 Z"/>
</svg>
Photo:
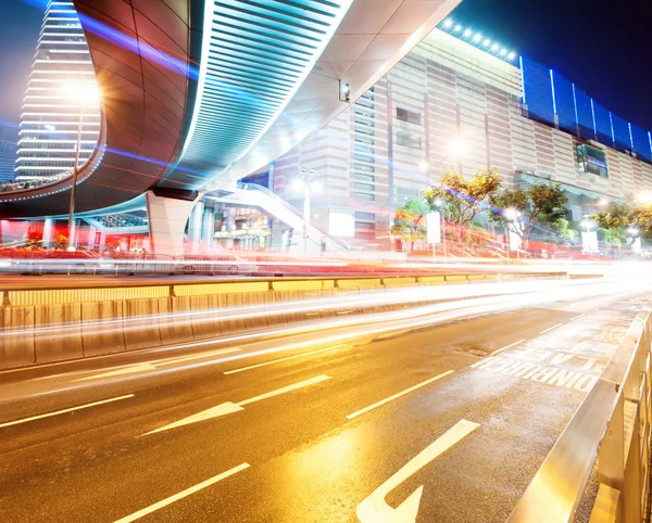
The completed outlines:
<svg viewBox="0 0 652 523">
<path fill-rule="evenodd" d="M 568 214 L 565 207 L 568 199 L 559 183 L 534 183 L 527 190 L 504 189 L 491 194 L 489 203 L 493 207 L 489 219 L 506 225 L 526 242 L 536 227 L 554 228 Z M 505 216 L 507 208 L 521 213 L 517 226 L 513 217 Z"/>
</svg>

